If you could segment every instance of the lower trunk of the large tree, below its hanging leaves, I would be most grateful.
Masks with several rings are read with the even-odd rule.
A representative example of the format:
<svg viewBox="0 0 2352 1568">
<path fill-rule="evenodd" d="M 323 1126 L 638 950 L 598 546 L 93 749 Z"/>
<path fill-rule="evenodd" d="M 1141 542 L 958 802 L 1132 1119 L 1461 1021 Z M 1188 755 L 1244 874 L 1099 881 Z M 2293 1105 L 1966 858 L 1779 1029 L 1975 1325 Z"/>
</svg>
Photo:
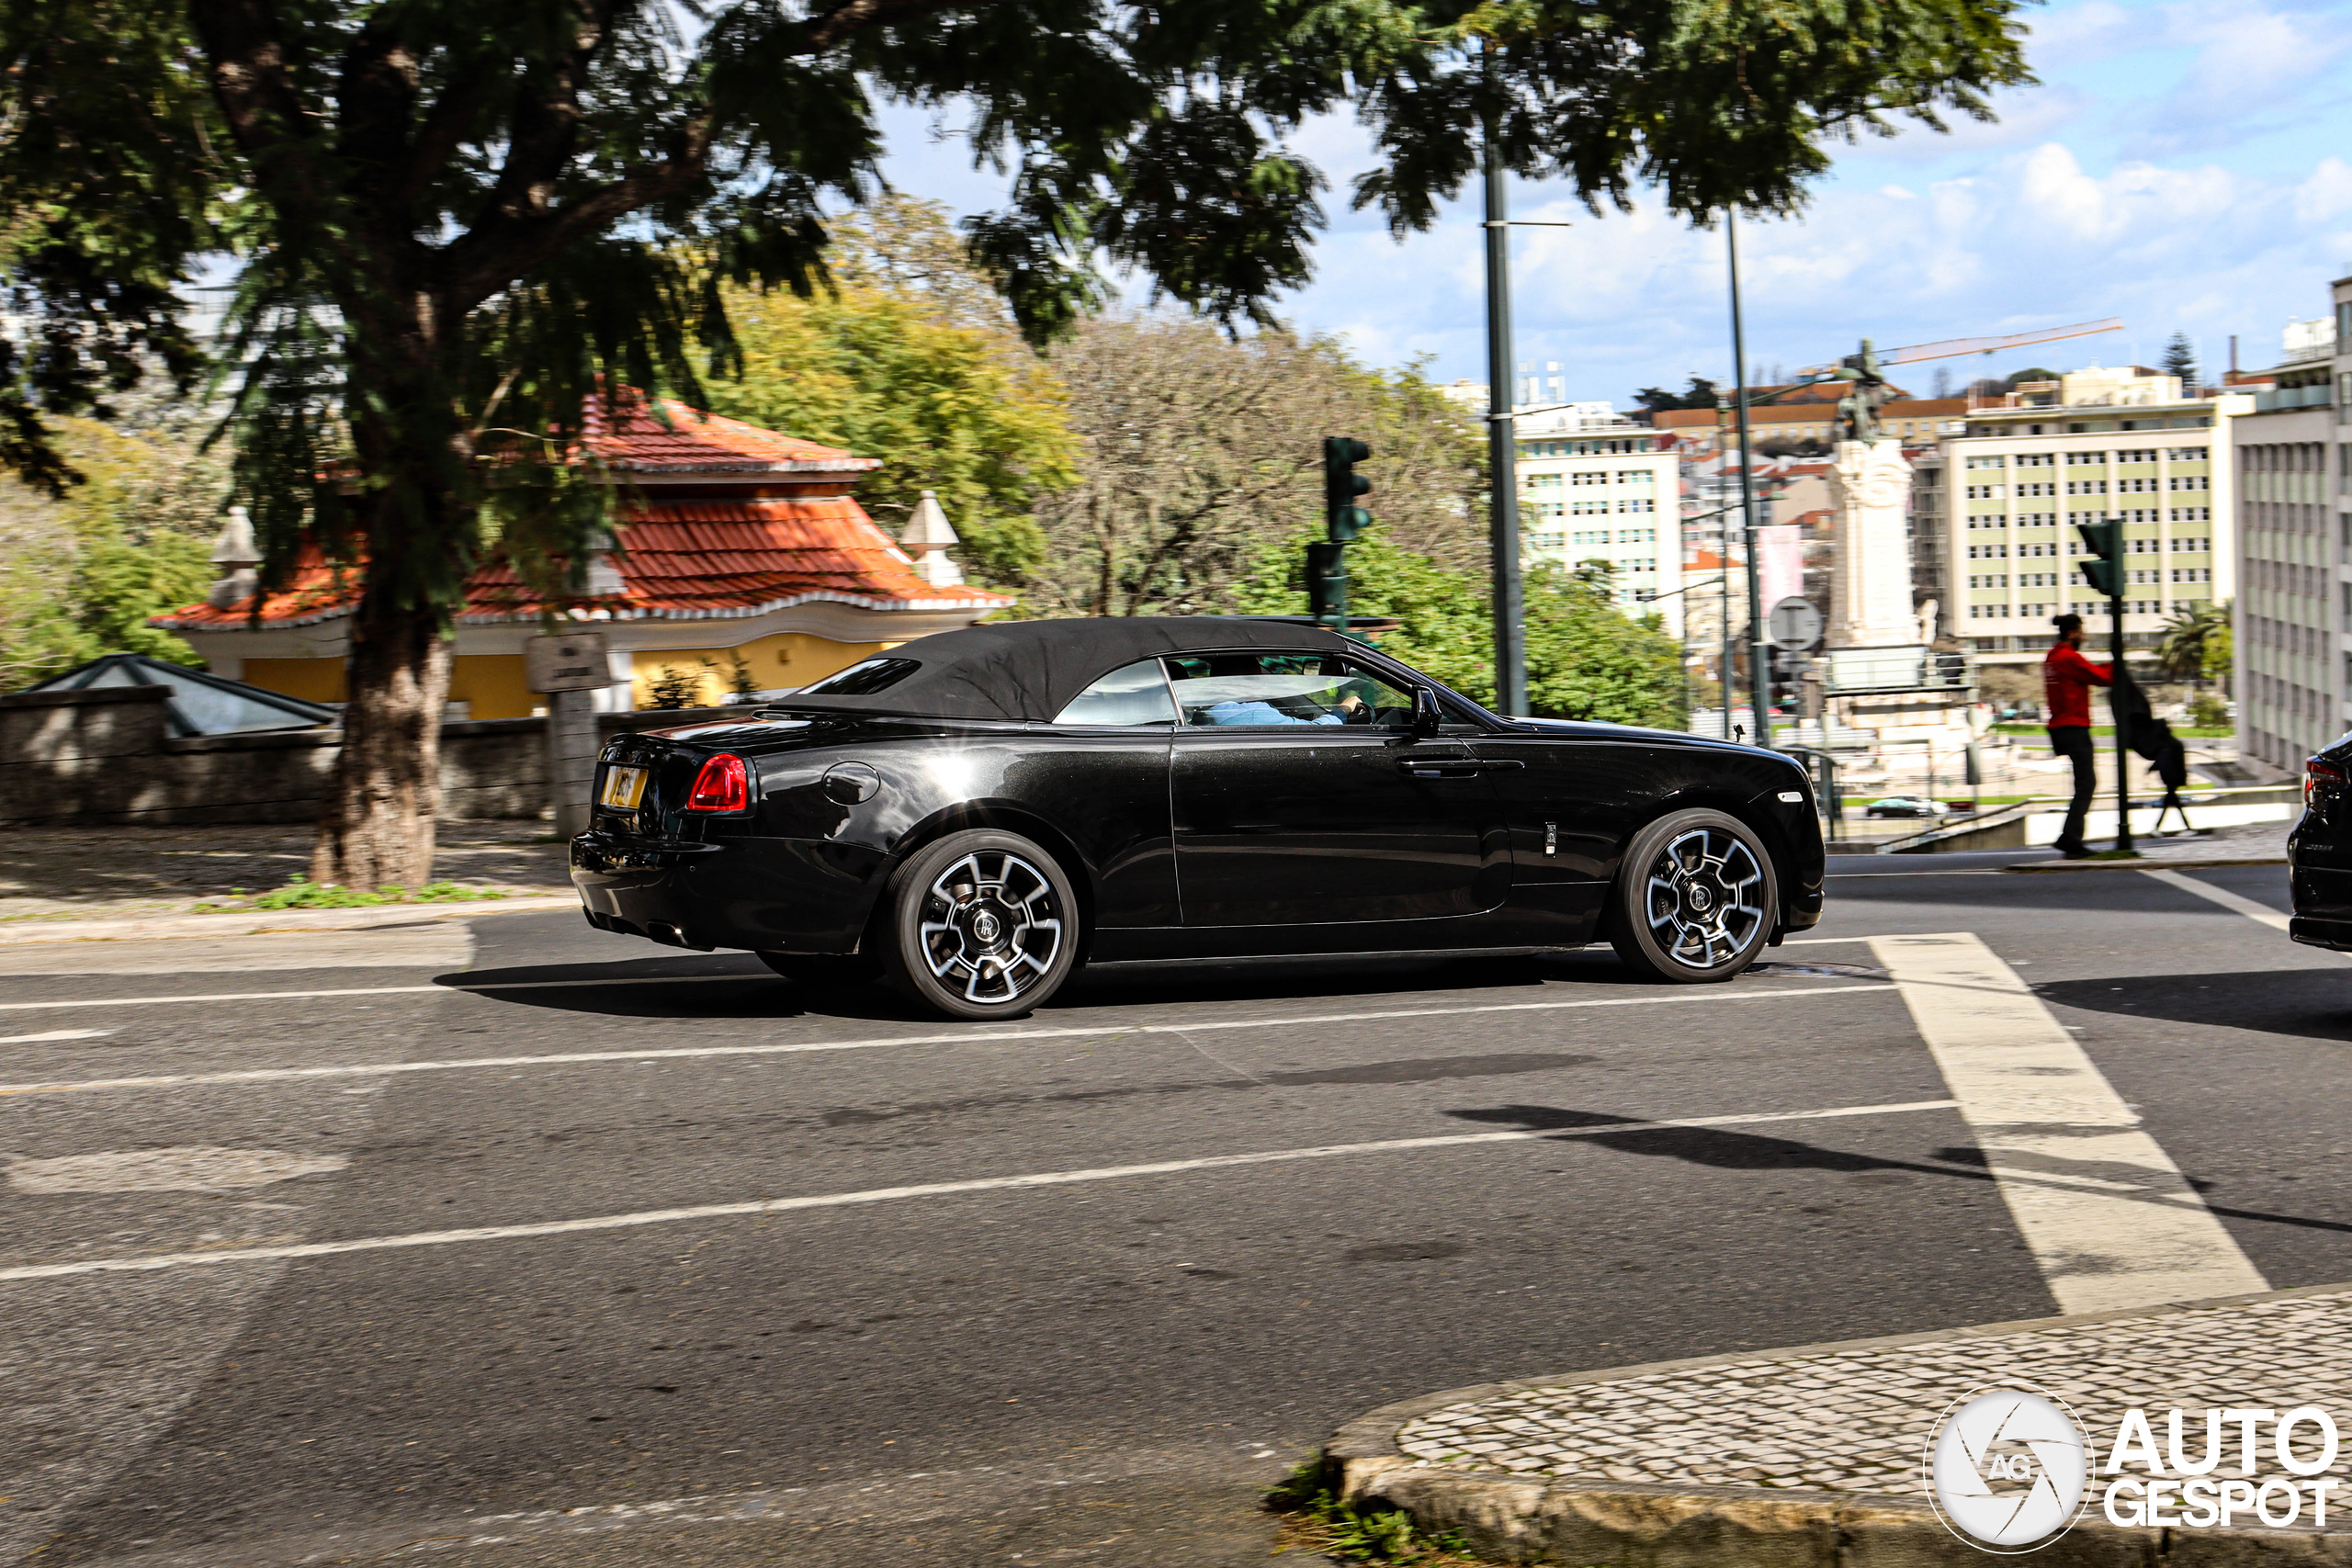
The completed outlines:
<svg viewBox="0 0 2352 1568">
<path fill-rule="evenodd" d="M 440 616 L 395 611 L 353 625 L 343 755 L 327 785 L 310 882 L 414 889 L 433 879 L 447 696 L 449 639 Z"/>
</svg>

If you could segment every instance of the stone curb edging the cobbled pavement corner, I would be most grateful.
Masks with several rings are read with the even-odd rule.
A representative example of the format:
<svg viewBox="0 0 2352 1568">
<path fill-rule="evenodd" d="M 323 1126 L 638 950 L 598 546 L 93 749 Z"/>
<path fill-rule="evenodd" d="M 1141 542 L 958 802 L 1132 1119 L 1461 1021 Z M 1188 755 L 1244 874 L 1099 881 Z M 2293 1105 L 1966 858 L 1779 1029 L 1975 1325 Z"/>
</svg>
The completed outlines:
<svg viewBox="0 0 2352 1568">
<path fill-rule="evenodd" d="M 1795 1361 L 1856 1349 L 2004 1338 L 2119 1319 L 2157 1319 L 2204 1307 L 2326 1295 L 2347 1286 L 2303 1286 L 2220 1295 L 2131 1312 L 1976 1324 L 1875 1340 L 1830 1340 L 1785 1349 L 1743 1349 L 1686 1361 L 1611 1366 L 1564 1378 L 1482 1382 L 1381 1406 L 1341 1427 L 1324 1446 L 1334 1486 L 1348 1502 L 1395 1507 L 1430 1533 L 1454 1530 L 1501 1563 L 1606 1563 L 1606 1568 L 1985 1568 L 1987 1554 L 1952 1535 L 1919 1497 L 1818 1493 L 1750 1486 L 1639 1486 L 1439 1469 L 1397 1448 L 1416 1415 L 1531 1389 L 1616 1382 L 1712 1366 Z M 1922 1427 L 1922 1441 L 1926 1432 Z M 2032 1554 L 2034 1568 L 2352 1568 L 2347 1530 L 2169 1530 L 2112 1526 L 2089 1512 Z"/>
</svg>

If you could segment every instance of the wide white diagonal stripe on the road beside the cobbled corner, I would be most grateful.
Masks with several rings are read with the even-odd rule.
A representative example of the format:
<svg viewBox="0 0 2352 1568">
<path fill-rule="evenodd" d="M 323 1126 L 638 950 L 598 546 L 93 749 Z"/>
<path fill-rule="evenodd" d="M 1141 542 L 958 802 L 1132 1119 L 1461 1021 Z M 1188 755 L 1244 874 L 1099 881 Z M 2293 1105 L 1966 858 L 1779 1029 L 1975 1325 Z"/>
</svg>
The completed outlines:
<svg viewBox="0 0 2352 1568">
<path fill-rule="evenodd" d="M 1903 992 L 2060 1312 L 2270 1288 L 2074 1037 L 1983 940 L 1879 936 L 1870 950 Z"/>
</svg>

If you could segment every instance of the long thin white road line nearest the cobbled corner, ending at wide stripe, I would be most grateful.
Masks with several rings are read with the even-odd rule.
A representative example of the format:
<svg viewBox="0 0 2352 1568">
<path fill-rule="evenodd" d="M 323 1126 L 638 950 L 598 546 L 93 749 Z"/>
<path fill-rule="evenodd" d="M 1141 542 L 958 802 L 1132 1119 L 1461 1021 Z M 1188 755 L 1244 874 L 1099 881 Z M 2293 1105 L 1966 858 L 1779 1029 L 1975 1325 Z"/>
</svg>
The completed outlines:
<svg viewBox="0 0 2352 1568">
<path fill-rule="evenodd" d="M 964 1192 L 1018 1192 L 1030 1187 L 1065 1187 L 1070 1182 L 1108 1182 L 1136 1175 L 1176 1175 L 1183 1171 L 1228 1171 L 1235 1166 L 1279 1166 L 1301 1159 L 1345 1159 L 1352 1154 L 1404 1154 L 1411 1150 L 1458 1150 L 1482 1143 L 1531 1143 L 1538 1138 L 1597 1138 L 1604 1133 L 1642 1133 L 1682 1126 L 1757 1126 L 1766 1121 L 1828 1121 L 1837 1117 L 1896 1117 L 1919 1110 L 1952 1110 L 1952 1100 L 1903 1100 L 1893 1105 L 1835 1105 L 1830 1110 L 1748 1112 L 1733 1117 L 1672 1117 L 1661 1121 L 1611 1121 L 1604 1126 L 1534 1128 L 1519 1133 L 1444 1133 L 1437 1138 L 1383 1138 L 1378 1143 L 1327 1143 L 1303 1150 L 1256 1150 L 1251 1154 L 1204 1154 L 1197 1159 L 1157 1159 L 1141 1166 L 1096 1166 L 1089 1171 L 1037 1171 L 1030 1175 L 988 1175 L 964 1182 L 924 1182 L 915 1187 L 866 1187 L 863 1192 L 823 1192 L 800 1199 L 753 1199 L 746 1204 L 699 1204 L 694 1208 L 644 1208 L 607 1213 L 586 1220 L 541 1220 L 536 1225 L 475 1225 L 470 1229 L 426 1229 L 405 1237 L 353 1237 L 350 1241 L 301 1241 L 289 1246 L 240 1246 L 216 1253 L 146 1253 L 139 1258 L 89 1258 L 85 1262 L 31 1262 L 0 1269 L 0 1281 L 66 1279 L 73 1274 L 134 1274 L 179 1269 L 209 1262 L 278 1262 L 287 1258 L 332 1258 L 339 1253 L 381 1253 L 409 1246 L 454 1246 L 459 1241 L 517 1241 L 529 1237 L 567 1237 L 590 1229 L 635 1229 L 640 1225 L 675 1225 L 680 1220 L 724 1220 L 748 1213 L 793 1213 L 797 1208 L 844 1208 L 854 1204 L 889 1204 L 896 1199 L 955 1197 Z"/>
</svg>

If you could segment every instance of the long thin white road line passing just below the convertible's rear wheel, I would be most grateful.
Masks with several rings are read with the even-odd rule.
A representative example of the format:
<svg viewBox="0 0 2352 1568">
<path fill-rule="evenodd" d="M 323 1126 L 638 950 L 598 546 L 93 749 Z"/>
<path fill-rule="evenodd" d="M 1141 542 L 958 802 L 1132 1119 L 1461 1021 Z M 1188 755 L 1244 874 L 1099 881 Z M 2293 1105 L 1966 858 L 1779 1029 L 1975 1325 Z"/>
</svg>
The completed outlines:
<svg viewBox="0 0 2352 1568">
<path fill-rule="evenodd" d="M 153 1077 L 122 1077 L 122 1079 L 82 1079 L 82 1081 L 47 1081 L 47 1084 L 0 1084 L 0 1095 L 33 1095 L 33 1093 L 87 1093 L 96 1088 L 191 1088 L 205 1084 L 285 1084 L 292 1079 L 350 1079 L 350 1077 L 390 1077 L 397 1072 L 468 1072 L 477 1067 L 564 1067 L 581 1063 L 661 1063 L 661 1060 L 691 1060 L 706 1056 L 800 1056 L 804 1051 L 875 1051 L 880 1046 L 967 1046 L 988 1041 L 1028 1041 L 1028 1039 L 1124 1039 L 1129 1034 L 1185 1034 L 1204 1030 L 1279 1030 L 1287 1025 L 1317 1025 L 1317 1023 L 1388 1023 L 1397 1018 L 1456 1018 L 1465 1013 L 1557 1013 L 1571 1009 L 1590 1006 L 1656 1006 L 1663 1001 L 1778 1001 L 1780 997 L 1837 997 L 1844 992 L 1882 992 L 1884 983 L 1863 985 L 1806 985 L 1802 990 L 1752 990 L 1752 992 L 1708 992 L 1691 997 L 1684 992 L 1649 994 L 1649 997 L 1602 997 L 1585 1001 L 1496 1001 L 1482 1006 L 1432 1006 L 1432 1009 L 1397 1009 L 1385 1013 L 1305 1013 L 1296 1018 L 1225 1018 L 1211 1023 L 1141 1023 L 1141 1025 L 1087 1025 L 1075 1030 L 1016 1030 L 1016 1032 L 981 1032 L 967 1030 L 960 1034 L 898 1034 L 898 1037 L 870 1037 L 870 1039 L 811 1039 L 793 1044 L 760 1044 L 760 1046 L 663 1046 L 656 1051 L 557 1051 L 548 1056 L 473 1056 L 473 1058 L 449 1058 L 430 1063 L 350 1063 L 339 1067 L 240 1067 L 235 1072 L 165 1072 Z"/>
</svg>

